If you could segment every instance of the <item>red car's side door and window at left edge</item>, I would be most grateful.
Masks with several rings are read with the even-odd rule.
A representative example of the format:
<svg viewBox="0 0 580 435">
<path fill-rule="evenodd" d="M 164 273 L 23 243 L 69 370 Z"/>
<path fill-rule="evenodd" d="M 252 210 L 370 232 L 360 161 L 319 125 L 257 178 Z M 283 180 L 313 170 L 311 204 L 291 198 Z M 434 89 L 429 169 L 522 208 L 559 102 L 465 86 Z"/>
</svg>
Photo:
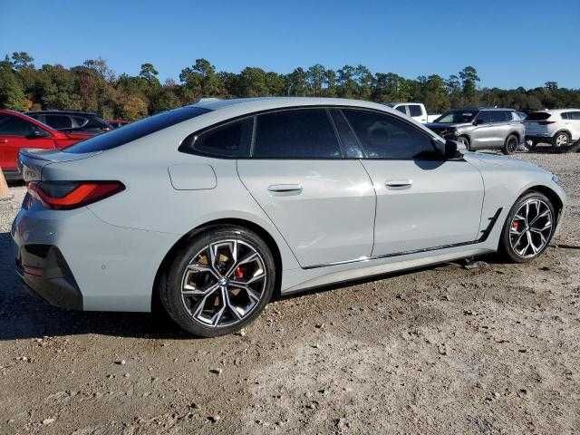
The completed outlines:
<svg viewBox="0 0 580 435">
<path fill-rule="evenodd" d="M 0 118 L 0 167 L 17 169 L 18 152 L 23 148 L 54 148 L 50 133 L 33 122 L 15 115 Z"/>
</svg>

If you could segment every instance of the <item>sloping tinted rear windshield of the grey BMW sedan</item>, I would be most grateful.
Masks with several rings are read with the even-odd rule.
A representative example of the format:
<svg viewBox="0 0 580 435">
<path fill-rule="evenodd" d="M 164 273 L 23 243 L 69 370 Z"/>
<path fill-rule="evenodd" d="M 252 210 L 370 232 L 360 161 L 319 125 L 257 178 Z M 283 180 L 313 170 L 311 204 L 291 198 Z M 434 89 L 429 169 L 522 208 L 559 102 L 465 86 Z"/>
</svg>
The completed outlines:
<svg viewBox="0 0 580 435">
<path fill-rule="evenodd" d="M 120 147 L 133 140 L 138 140 L 156 131 L 167 129 L 168 127 L 195 118 L 210 110 L 202 107 L 187 106 L 173 111 L 164 111 L 159 115 L 150 116 L 140 121 L 132 122 L 123 129 L 109 131 L 99 136 L 94 136 L 88 140 L 82 140 L 72 147 L 66 148 L 64 152 L 82 154 L 86 152 L 96 152 L 111 150 Z"/>
</svg>

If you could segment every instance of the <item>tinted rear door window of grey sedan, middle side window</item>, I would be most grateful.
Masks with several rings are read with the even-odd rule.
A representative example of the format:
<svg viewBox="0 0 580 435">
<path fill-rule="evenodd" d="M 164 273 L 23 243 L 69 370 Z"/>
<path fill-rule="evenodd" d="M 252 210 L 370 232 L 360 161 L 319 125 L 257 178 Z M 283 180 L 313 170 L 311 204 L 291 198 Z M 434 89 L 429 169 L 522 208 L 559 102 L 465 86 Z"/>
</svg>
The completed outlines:
<svg viewBox="0 0 580 435">
<path fill-rule="evenodd" d="M 326 111 L 298 109 L 256 117 L 253 157 L 341 159 L 343 155 Z"/>
</svg>

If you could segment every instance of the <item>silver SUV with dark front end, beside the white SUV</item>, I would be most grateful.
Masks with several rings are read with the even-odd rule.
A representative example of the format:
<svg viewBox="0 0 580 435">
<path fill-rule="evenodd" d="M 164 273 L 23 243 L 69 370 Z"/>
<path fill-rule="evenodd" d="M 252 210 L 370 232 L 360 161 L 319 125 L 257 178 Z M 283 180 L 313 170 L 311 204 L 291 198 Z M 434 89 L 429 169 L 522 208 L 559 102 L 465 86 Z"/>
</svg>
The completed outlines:
<svg viewBox="0 0 580 435">
<path fill-rule="evenodd" d="M 525 138 L 522 119 L 512 109 L 448 111 L 425 126 L 445 139 L 457 140 L 467 150 L 502 150 L 512 154 Z"/>
</svg>

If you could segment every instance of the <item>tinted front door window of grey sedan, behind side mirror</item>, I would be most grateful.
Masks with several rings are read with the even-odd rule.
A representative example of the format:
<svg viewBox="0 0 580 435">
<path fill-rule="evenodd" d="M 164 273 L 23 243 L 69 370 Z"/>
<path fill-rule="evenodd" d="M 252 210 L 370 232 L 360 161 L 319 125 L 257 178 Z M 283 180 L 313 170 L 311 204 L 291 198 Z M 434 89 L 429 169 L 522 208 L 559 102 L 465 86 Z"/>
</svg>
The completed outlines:
<svg viewBox="0 0 580 435">
<path fill-rule="evenodd" d="M 417 160 L 436 156 L 431 138 L 410 123 L 375 111 L 343 110 L 367 159 Z"/>
</svg>

